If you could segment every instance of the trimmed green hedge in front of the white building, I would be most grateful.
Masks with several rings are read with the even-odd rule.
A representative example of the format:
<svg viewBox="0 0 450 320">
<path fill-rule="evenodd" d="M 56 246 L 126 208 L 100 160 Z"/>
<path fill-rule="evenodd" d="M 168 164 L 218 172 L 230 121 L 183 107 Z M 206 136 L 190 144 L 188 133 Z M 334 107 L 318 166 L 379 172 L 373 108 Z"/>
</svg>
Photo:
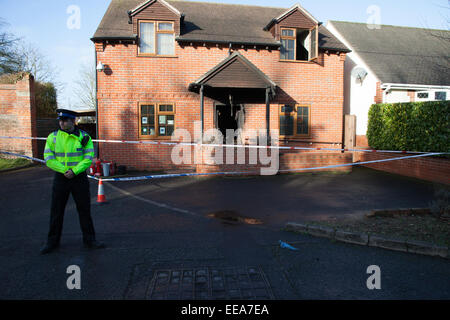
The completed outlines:
<svg viewBox="0 0 450 320">
<path fill-rule="evenodd" d="M 374 104 L 367 139 L 374 149 L 450 152 L 450 101 Z"/>
</svg>

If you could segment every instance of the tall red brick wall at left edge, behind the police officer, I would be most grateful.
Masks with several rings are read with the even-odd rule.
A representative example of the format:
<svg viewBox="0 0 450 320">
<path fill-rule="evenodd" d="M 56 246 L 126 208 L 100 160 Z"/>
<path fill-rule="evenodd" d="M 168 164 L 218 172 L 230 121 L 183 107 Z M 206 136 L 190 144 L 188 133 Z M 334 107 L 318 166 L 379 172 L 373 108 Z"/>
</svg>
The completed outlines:
<svg viewBox="0 0 450 320">
<path fill-rule="evenodd" d="M 34 79 L 25 75 L 15 84 L 0 84 L 0 136 L 35 137 Z M 37 155 L 37 140 L 1 139 L 0 150 Z"/>
</svg>

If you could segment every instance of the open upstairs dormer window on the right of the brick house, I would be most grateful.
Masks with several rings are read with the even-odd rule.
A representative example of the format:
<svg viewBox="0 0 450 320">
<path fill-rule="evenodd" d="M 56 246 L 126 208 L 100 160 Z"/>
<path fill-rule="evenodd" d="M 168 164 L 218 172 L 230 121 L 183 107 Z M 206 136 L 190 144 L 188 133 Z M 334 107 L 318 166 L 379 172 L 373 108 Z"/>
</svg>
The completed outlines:
<svg viewBox="0 0 450 320">
<path fill-rule="evenodd" d="M 281 60 L 311 61 L 318 55 L 318 32 L 313 29 L 281 28 Z"/>
</svg>

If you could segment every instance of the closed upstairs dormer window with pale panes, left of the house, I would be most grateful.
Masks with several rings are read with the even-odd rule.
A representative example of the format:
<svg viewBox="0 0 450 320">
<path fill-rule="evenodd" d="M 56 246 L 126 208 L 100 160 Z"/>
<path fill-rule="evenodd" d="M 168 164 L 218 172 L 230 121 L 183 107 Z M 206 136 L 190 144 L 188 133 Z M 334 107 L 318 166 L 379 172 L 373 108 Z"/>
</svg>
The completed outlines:
<svg viewBox="0 0 450 320">
<path fill-rule="evenodd" d="M 139 21 L 139 54 L 175 55 L 174 23 Z"/>
</svg>

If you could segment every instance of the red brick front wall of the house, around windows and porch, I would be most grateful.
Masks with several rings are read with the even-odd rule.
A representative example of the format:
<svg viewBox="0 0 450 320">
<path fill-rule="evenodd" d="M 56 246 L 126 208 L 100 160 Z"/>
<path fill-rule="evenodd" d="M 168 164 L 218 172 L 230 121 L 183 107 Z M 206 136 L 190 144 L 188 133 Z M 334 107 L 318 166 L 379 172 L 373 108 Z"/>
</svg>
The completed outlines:
<svg viewBox="0 0 450 320">
<path fill-rule="evenodd" d="M 173 102 L 175 126 L 193 136 L 200 121 L 200 97 L 190 83 L 228 56 L 225 46 L 180 46 L 176 58 L 138 57 L 132 44 L 96 44 L 97 60 L 109 70 L 98 74 L 98 129 L 100 139 L 139 140 L 138 103 Z M 343 71 L 345 54 L 321 53 L 318 63 L 280 62 L 279 51 L 240 49 L 281 90 L 270 107 L 270 127 L 279 128 L 282 103 L 311 106 L 311 142 L 341 142 L 343 130 Z M 245 128 L 265 128 L 265 105 L 246 105 Z M 213 128 L 214 101 L 205 98 L 205 130 Z M 170 147 L 101 144 L 102 159 L 140 169 L 171 167 Z"/>
</svg>

